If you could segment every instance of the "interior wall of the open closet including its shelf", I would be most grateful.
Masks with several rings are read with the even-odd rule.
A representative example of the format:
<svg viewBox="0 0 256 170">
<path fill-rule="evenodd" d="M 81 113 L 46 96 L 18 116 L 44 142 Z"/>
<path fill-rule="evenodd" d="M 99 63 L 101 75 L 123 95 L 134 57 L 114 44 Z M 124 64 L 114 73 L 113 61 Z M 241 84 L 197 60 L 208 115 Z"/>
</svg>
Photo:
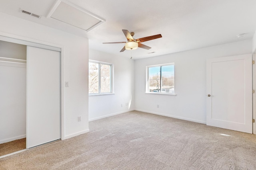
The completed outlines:
<svg viewBox="0 0 256 170">
<path fill-rule="evenodd" d="M 26 45 L 0 41 L 0 144 L 26 137 Z"/>
</svg>

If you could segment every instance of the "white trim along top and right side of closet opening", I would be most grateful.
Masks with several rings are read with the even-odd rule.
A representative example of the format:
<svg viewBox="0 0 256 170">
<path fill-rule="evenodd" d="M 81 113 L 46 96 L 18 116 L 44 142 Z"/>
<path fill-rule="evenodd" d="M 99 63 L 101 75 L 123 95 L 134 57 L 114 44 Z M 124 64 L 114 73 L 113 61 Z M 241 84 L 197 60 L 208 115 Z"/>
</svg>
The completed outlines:
<svg viewBox="0 0 256 170">
<path fill-rule="evenodd" d="M 40 41 L 37 39 L 31 39 L 28 37 L 22 37 L 22 36 L 10 34 L 10 33 L 5 33 L 2 31 L 0 31 L 0 40 L 11 42 L 11 43 L 29 45 L 29 46 L 43 48 L 43 49 L 60 51 L 60 136 L 61 136 L 61 140 L 64 140 L 65 139 L 64 46 L 50 43 L 50 42 Z"/>
</svg>

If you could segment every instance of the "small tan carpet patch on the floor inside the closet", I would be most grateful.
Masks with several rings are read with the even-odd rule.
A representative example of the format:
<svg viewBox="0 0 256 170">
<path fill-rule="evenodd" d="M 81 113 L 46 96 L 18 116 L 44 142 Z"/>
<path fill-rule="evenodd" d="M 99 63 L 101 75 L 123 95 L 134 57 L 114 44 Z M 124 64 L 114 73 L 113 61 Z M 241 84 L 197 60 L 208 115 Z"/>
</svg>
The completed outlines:
<svg viewBox="0 0 256 170">
<path fill-rule="evenodd" d="M 26 138 L 0 144 L 0 156 L 26 149 Z"/>
</svg>

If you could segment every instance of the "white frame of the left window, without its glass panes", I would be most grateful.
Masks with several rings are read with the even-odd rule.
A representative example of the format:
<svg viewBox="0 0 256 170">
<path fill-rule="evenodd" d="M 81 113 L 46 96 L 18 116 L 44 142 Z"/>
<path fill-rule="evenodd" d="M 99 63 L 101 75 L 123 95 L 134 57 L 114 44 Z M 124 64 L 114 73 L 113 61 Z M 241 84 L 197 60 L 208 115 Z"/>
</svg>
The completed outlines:
<svg viewBox="0 0 256 170">
<path fill-rule="evenodd" d="M 99 68 L 98 69 L 98 93 L 90 93 L 89 90 L 88 90 L 89 96 L 114 94 L 114 64 L 105 63 L 105 62 L 102 62 L 102 61 L 89 60 L 89 62 L 88 62 L 88 75 L 89 75 L 89 71 L 90 71 L 89 70 L 89 63 L 96 63 L 96 64 L 98 64 L 98 68 Z M 101 66 L 100 66 L 101 64 L 110 66 L 110 92 L 101 92 Z M 89 88 L 89 82 L 88 82 L 88 88 Z"/>
</svg>

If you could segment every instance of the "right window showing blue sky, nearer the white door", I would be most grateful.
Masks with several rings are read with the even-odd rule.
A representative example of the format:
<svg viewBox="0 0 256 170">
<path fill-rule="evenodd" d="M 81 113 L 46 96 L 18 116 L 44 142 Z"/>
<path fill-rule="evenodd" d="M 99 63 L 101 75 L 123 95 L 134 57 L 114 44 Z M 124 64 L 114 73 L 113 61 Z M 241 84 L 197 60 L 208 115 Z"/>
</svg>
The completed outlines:
<svg viewBox="0 0 256 170">
<path fill-rule="evenodd" d="M 174 94 L 174 63 L 146 66 L 146 93 Z"/>
</svg>

